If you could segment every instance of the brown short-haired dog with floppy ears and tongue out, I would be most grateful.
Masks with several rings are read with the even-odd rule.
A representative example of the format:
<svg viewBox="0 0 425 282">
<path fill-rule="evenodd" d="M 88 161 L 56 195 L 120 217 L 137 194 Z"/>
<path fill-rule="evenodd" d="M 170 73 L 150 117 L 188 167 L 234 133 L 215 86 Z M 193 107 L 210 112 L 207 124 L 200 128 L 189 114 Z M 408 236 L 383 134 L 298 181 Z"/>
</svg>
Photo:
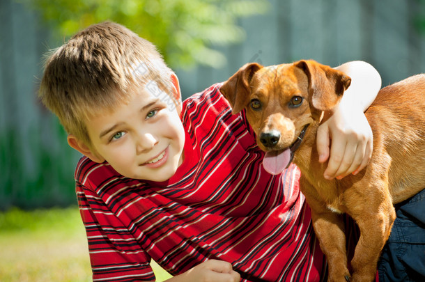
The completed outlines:
<svg viewBox="0 0 425 282">
<path fill-rule="evenodd" d="M 329 265 L 329 281 L 373 281 L 395 219 L 393 203 L 417 194 L 425 182 L 425 75 L 383 88 L 366 111 L 373 153 L 366 169 L 342 180 L 323 177 L 316 132 L 323 111 L 334 108 L 350 77 L 315 61 L 263 67 L 244 65 L 220 91 L 233 113 L 247 119 L 264 150 L 264 168 L 279 173 L 292 161 Z M 350 275 L 341 213 L 360 228 Z M 351 277 L 351 279 L 350 279 Z"/>
</svg>

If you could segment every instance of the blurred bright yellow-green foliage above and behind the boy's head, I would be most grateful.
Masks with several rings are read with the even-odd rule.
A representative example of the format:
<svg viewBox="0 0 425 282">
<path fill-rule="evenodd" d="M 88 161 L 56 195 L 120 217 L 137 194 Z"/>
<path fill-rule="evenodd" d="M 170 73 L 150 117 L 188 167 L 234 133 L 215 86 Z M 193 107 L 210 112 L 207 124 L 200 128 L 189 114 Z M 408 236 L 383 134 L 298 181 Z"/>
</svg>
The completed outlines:
<svg viewBox="0 0 425 282">
<path fill-rule="evenodd" d="M 111 20 L 153 42 L 171 68 L 226 62 L 214 46 L 240 42 L 238 19 L 269 8 L 266 0 L 17 0 L 38 10 L 67 38 L 90 24 Z"/>
</svg>

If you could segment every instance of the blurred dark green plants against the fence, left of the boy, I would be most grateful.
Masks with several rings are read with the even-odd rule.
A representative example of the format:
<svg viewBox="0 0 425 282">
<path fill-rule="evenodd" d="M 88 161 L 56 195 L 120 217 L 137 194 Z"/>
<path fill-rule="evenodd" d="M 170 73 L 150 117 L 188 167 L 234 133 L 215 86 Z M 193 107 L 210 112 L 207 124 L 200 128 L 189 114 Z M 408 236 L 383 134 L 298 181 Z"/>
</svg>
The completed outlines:
<svg viewBox="0 0 425 282">
<path fill-rule="evenodd" d="M 72 172 L 79 155 L 65 146 L 66 134 L 56 118 L 45 123 L 48 136 L 42 136 L 39 127 L 29 129 L 29 139 L 15 128 L 0 136 L 0 210 L 11 205 L 33 208 L 75 203 Z M 25 146 L 30 152 L 27 155 Z"/>
</svg>

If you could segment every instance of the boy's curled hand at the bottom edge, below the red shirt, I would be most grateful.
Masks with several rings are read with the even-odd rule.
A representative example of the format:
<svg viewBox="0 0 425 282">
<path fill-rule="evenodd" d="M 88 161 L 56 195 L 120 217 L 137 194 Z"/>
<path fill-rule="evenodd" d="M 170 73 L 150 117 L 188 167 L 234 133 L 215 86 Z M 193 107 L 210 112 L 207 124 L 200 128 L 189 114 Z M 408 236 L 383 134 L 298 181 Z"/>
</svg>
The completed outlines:
<svg viewBox="0 0 425 282">
<path fill-rule="evenodd" d="M 207 260 L 187 272 L 167 280 L 173 282 L 239 282 L 240 274 L 235 272 L 230 263 L 222 260 Z"/>
</svg>

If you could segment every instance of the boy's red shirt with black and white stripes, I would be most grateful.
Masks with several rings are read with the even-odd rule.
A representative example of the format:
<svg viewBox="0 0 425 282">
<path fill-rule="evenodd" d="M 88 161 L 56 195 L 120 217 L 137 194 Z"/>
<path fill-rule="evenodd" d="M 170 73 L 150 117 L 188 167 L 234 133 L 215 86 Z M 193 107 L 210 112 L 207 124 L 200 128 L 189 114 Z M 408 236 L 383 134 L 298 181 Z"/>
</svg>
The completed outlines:
<svg viewBox="0 0 425 282">
<path fill-rule="evenodd" d="M 93 281 L 153 281 L 153 258 L 173 275 L 208 259 L 242 281 L 320 281 L 325 269 L 300 193 L 300 171 L 262 166 L 245 112 L 219 85 L 185 100 L 185 159 L 166 182 L 125 178 L 80 159 L 75 179 Z"/>
</svg>

